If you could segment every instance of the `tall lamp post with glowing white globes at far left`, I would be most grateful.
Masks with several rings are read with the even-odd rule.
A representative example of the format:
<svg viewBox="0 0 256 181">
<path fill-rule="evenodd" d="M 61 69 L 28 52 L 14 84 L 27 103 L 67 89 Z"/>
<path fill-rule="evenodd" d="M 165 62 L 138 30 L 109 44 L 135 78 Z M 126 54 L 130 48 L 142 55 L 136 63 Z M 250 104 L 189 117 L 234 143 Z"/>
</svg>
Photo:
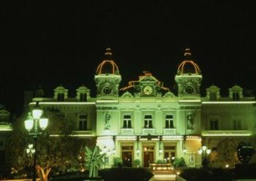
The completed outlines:
<svg viewBox="0 0 256 181">
<path fill-rule="evenodd" d="M 33 181 L 37 180 L 36 166 L 37 166 L 37 138 L 42 131 L 48 126 L 48 118 L 43 115 L 42 109 L 39 107 L 39 102 L 33 107 L 32 112 L 29 112 L 25 120 L 25 128 L 29 131 L 29 135 L 34 138 L 34 175 Z"/>
</svg>

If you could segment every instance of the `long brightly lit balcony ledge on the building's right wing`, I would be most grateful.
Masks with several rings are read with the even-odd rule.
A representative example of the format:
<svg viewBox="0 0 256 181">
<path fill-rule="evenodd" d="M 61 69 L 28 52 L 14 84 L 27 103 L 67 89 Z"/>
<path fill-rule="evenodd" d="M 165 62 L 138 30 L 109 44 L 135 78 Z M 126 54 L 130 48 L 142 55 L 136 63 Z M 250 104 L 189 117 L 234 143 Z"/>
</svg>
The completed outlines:
<svg viewBox="0 0 256 181">
<path fill-rule="evenodd" d="M 208 130 L 203 131 L 202 136 L 251 136 L 248 130 Z"/>
</svg>

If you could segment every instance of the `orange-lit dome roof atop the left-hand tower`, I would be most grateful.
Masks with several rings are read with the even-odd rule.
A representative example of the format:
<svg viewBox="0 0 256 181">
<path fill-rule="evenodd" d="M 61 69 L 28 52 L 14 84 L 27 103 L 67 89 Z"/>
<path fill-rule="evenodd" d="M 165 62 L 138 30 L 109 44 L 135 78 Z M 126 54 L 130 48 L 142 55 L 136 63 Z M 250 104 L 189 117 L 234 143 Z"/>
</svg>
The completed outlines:
<svg viewBox="0 0 256 181">
<path fill-rule="evenodd" d="M 110 48 L 106 49 L 105 60 L 97 67 L 96 74 L 119 74 L 118 66 L 113 61 Z"/>
</svg>

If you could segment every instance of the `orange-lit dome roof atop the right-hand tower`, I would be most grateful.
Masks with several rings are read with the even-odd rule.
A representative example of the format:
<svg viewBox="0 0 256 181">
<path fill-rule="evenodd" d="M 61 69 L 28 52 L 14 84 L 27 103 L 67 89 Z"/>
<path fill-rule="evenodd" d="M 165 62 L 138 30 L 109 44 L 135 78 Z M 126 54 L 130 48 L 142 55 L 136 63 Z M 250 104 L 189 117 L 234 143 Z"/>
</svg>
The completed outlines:
<svg viewBox="0 0 256 181">
<path fill-rule="evenodd" d="M 190 49 L 186 48 L 184 61 L 179 64 L 177 74 L 200 74 L 199 66 L 192 61 L 191 55 Z"/>
</svg>

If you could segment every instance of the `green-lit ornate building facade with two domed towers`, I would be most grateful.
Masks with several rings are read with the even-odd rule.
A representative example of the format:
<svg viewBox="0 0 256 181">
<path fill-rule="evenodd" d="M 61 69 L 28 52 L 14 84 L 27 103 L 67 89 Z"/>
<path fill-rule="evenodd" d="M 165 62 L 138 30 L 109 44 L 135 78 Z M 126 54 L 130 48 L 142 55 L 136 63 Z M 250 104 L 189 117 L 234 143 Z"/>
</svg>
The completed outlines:
<svg viewBox="0 0 256 181">
<path fill-rule="evenodd" d="M 121 73 L 108 48 L 94 76 L 95 98 L 85 86 L 77 89 L 75 98 L 59 86 L 53 98 L 37 96 L 30 105 L 40 101 L 42 107 L 59 109 L 74 121 L 75 136 L 96 137 L 97 145 L 107 153 L 106 166 L 113 164 L 113 157 L 121 158 L 125 166 L 132 166 L 135 159 L 148 166 L 158 160 L 170 162 L 173 157 L 184 157 L 187 166 L 200 166 L 198 150 L 203 145 L 211 148 L 212 164 L 221 165 L 223 161 L 217 159 L 221 142 L 255 144 L 255 97 L 244 97 L 238 85 L 229 89 L 228 97 L 222 97 L 215 85 L 202 97 L 202 79 L 186 49 L 175 76 L 178 95 L 150 72 L 120 88 Z"/>
</svg>

